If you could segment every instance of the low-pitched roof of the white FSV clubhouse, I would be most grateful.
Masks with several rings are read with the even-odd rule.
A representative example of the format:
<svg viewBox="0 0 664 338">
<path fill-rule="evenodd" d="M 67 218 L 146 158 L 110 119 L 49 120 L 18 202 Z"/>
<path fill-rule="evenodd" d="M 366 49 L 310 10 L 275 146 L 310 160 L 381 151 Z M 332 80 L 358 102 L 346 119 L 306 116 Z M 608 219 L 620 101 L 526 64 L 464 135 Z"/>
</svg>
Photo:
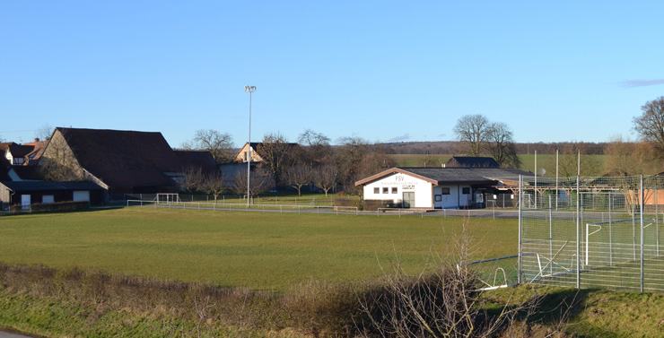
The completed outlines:
<svg viewBox="0 0 664 338">
<path fill-rule="evenodd" d="M 371 181 L 384 178 L 394 173 L 402 173 L 417 178 L 422 178 L 436 186 L 442 184 L 467 184 L 467 185 L 489 185 L 495 186 L 504 181 L 519 181 L 519 175 L 532 176 L 532 173 L 520 169 L 501 168 L 392 168 L 382 171 L 369 178 L 355 182 L 355 186 L 361 186 Z"/>
</svg>

